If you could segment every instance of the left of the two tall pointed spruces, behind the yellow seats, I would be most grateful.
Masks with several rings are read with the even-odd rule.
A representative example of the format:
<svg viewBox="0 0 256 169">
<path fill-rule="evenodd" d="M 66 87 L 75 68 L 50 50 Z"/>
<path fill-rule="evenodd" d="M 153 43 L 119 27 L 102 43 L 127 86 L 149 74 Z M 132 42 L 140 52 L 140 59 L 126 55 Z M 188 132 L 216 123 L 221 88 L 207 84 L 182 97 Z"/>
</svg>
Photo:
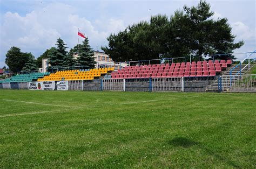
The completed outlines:
<svg viewBox="0 0 256 169">
<path fill-rule="evenodd" d="M 57 45 L 57 48 L 56 50 L 51 51 L 49 64 L 51 65 L 51 67 L 55 68 L 63 67 L 64 58 L 68 53 L 66 51 L 66 48 L 68 47 L 66 47 L 66 44 L 60 38 L 57 39 L 57 44 L 55 45 Z"/>
</svg>

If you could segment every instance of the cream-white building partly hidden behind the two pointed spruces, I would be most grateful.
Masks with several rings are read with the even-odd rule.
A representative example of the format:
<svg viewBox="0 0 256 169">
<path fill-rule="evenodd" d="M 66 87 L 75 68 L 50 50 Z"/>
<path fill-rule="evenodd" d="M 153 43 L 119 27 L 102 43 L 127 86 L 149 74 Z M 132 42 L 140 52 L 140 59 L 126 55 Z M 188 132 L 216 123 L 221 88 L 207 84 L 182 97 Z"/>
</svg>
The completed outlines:
<svg viewBox="0 0 256 169">
<path fill-rule="evenodd" d="M 73 55 L 74 58 L 77 59 L 78 55 Z M 94 58 L 95 58 L 95 61 L 97 62 L 96 64 L 96 68 L 100 68 L 100 67 L 113 67 L 114 66 L 114 69 L 119 69 L 120 66 L 122 67 L 125 67 L 125 66 L 128 66 L 128 64 L 126 64 L 125 62 L 117 62 L 115 63 L 110 57 L 109 55 L 107 55 L 106 53 L 104 52 L 94 52 Z M 47 70 L 47 67 L 48 66 L 51 66 L 49 64 L 49 59 L 43 59 L 42 60 L 42 68 L 39 68 L 39 72 L 46 72 Z"/>
</svg>

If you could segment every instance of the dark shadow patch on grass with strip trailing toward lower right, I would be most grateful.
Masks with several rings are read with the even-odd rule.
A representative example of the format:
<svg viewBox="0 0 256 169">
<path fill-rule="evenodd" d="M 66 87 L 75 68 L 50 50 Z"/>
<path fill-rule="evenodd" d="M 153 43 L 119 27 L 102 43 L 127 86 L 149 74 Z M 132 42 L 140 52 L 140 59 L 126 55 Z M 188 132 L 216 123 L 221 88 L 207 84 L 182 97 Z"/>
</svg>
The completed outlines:
<svg viewBox="0 0 256 169">
<path fill-rule="evenodd" d="M 221 156 L 221 154 L 214 152 L 214 150 L 209 149 L 208 147 L 204 146 L 199 142 L 195 142 L 194 140 L 185 138 L 185 137 L 176 137 L 167 142 L 169 145 L 173 145 L 176 147 L 184 147 L 189 148 L 190 146 L 196 145 L 198 149 L 206 151 L 210 156 L 214 156 L 215 158 L 223 161 L 224 163 L 231 165 L 233 167 L 240 167 L 235 163 L 233 160 L 229 160 L 226 157 Z"/>
</svg>

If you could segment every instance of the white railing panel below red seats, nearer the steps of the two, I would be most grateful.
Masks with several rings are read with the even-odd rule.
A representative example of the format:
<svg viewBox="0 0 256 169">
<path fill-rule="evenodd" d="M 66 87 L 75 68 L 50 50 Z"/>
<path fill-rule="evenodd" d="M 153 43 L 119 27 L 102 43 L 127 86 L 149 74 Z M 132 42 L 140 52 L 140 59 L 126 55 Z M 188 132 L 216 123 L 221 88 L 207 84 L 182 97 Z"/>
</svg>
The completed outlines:
<svg viewBox="0 0 256 169">
<path fill-rule="evenodd" d="M 152 78 L 152 91 L 184 91 L 184 78 Z"/>
</svg>

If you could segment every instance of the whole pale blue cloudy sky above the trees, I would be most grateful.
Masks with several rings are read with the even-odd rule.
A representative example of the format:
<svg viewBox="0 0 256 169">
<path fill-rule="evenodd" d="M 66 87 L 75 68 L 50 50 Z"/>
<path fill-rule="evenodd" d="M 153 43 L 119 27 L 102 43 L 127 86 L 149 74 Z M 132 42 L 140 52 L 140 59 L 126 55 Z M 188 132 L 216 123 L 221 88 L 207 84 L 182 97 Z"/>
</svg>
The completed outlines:
<svg viewBox="0 0 256 169">
<path fill-rule="evenodd" d="M 0 0 L 0 68 L 5 54 L 12 47 L 39 57 L 62 38 L 69 48 L 77 44 L 77 28 L 89 38 L 93 50 L 107 46 L 111 33 L 151 16 L 173 15 L 177 9 L 197 5 L 199 1 L 44 1 Z M 208 0 L 214 19 L 228 18 L 235 42 L 245 45 L 235 53 L 256 50 L 256 1 Z M 82 41 L 79 38 L 79 41 Z M 240 56 L 238 56 L 239 58 Z M 242 56 L 241 56 L 242 57 Z"/>
</svg>

